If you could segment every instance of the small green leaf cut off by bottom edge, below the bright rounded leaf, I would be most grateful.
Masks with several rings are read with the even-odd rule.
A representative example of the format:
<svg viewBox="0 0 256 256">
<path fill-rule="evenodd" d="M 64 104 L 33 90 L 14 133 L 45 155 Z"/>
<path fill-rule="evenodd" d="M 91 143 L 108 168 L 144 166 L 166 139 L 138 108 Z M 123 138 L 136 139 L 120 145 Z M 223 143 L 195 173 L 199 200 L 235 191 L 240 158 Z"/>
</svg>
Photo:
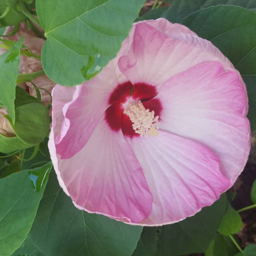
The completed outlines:
<svg viewBox="0 0 256 256">
<path fill-rule="evenodd" d="M 216 234 L 205 256 L 234 256 L 239 250 L 229 237 Z"/>
</svg>

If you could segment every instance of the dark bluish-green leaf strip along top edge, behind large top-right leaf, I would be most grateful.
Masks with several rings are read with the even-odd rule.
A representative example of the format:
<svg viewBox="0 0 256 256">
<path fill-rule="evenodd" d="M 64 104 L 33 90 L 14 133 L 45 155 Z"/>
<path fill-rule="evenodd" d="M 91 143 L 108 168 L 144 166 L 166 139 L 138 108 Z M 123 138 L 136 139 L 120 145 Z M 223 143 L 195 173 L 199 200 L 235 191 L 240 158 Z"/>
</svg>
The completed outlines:
<svg viewBox="0 0 256 256">
<path fill-rule="evenodd" d="M 164 13 L 164 16 L 172 23 L 181 23 L 182 19 L 200 9 L 218 4 L 237 5 L 256 11 L 255 0 L 175 0 Z"/>
</svg>

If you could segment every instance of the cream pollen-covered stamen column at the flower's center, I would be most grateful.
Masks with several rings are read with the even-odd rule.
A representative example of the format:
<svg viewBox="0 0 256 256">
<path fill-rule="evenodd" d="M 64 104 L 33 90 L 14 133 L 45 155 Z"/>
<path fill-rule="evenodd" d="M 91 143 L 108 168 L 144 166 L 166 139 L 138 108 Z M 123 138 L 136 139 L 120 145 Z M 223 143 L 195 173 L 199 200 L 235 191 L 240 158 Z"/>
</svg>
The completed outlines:
<svg viewBox="0 0 256 256">
<path fill-rule="evenodd" d="M 125 109 L 124 114 L 130 117 L 133 130 L 140 134 L 140 136 L 147 137 L 147 134 L 158 136 L 159 116 L 155 116 L 154 110 L 145 109 L 140 100 L 130 103 Z"/>
</svg>

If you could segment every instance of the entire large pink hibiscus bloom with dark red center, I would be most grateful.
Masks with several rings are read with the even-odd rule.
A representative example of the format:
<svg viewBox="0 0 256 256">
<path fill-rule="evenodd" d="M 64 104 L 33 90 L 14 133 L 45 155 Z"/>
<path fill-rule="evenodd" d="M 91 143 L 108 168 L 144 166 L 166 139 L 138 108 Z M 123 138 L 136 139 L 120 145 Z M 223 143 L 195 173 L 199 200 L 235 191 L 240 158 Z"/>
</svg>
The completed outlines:
<svg viewBox="0 0 256 256">
<path fill-rule="evenodd" d="M 135 225 L 181 221 L 232 186 L 248 158 L 239 72 L 163 18 L 134 24 L 101 73 L 52 95 L 53 165 L 87 212 Z"/>
</svg>

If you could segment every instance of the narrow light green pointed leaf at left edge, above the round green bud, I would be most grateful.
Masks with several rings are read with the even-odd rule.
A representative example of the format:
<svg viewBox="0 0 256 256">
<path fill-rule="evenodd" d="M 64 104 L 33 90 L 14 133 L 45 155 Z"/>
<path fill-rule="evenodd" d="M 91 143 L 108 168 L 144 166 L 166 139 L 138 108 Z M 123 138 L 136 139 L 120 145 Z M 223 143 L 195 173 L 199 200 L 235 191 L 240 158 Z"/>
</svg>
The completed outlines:
<svg viewBox="0 0 256 256">
<path fill-rule="evenodd" d="M 0 19 L 1 20 L 1 19 Z M 19 72 L 20 48 L 23 38 L 15 43 L 9 51 L 0 56 L 0 104 L 4 105 L 10 113 L 12 123 L 15 122 L 15 87 Z"/>
</svg>

